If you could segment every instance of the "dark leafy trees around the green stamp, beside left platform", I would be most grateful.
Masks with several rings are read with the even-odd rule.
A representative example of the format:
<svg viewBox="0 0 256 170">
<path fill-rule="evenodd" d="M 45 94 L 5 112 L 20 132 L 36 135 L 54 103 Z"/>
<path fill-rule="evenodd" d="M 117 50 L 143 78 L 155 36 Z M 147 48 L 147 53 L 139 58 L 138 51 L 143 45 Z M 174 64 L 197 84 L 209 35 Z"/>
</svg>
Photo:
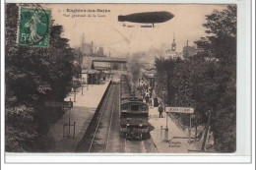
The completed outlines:
<svg viewBox="0 0 256 170">
<path fill-rule="evenodd" d="M 70 91 L 74 50 L 53 21 L 48 47 L 18 45 L 18 7 L 7 4 L 6 11 L 6 149 L 32 151 L 40 126 L 47 126 L 44 102 L 63 101 Z"/>
</svg>

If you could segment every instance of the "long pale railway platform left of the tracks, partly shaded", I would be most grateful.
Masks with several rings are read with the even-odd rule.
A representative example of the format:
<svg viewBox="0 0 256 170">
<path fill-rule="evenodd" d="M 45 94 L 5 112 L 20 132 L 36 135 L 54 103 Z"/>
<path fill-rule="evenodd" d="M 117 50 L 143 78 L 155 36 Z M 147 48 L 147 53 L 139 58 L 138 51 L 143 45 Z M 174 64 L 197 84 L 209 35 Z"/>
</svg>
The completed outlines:
<svg viewBox="0 0 256 170">
<path fill-rule="evenodd" d="M 64 100 L 73 101 L 73 108 L 66 110 L 65 114 L 50 127 L 47 138 L 52 142 L 52 146 L 49 152 L 75 151 L 76 145 L 83 138 L 108 85 L 109 82 L 105 82 L 103 85 L 83 85 L 83 89 L 82 86 L 76 89 L 76 94 L 70 92 L 67 95 Z M 74 125 L 75 122 L 75 128 L 71 126 L 68 129 L 69 120 L 71 125 Z"/>
</svg>

